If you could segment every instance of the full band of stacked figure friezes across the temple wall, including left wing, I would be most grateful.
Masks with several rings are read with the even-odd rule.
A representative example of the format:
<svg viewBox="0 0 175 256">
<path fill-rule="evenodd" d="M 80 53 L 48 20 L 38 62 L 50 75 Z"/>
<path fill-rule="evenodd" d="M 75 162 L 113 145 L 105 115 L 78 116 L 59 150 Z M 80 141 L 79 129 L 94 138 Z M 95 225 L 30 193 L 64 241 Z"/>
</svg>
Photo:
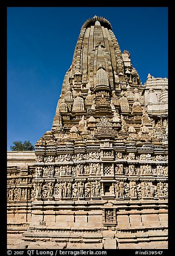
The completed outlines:
<svg viewBox="0 0 175 256">
<path fill-rule="evenodd" d="M 116 200 L 167 198 L 167 155 L 115 152 L 113 149 L 108 150 L 107 145 L 112 146 L 106 141 L 104 149 L 100 152 L 38 155 L 38 163 L 32 173 L 11 169 L 8 171 L 7 180 L 8 201 L 33 201 L 34 198 L 100 199 L 104 195 L 101 191 L 101 175 L 113 175 L 116 179 L 116 182 L 112 182 Z M 100 155 L 107 160 L 100 161 Z M 35 179 L 32 179 L 32 176 Z M 78 180 L 73 181 L 76 177 Z M 92 180 L 87 180 L 89 177 Z M 93 180 L 93 177 L 96 180 Z"/>
</svg>

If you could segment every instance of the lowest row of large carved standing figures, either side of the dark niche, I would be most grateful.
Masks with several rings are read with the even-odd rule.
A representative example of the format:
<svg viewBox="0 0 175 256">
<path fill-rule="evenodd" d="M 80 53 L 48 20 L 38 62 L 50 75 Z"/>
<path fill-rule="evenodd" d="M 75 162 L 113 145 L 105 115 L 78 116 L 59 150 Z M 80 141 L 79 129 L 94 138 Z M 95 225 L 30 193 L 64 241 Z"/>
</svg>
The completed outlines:
<svg viewBox="0 0 175 256">
<path fill-rule="evenodd" d="M 168 185 L 165 181 L 116 180 L 111 186 L 114 186 L 114 198 L 116 200 L 167 198 L 168 193 Z M 14 200 L 10 193 L 11 192 L 9 192 L 10 200 Z M 37 182 L 34 185 L 34 193 L 35 198 L 38 200 L 103 198 L 103 193 L 101 193 L 101 182 L 99 180 L 59 180 L 56 182 L 54 182 L 54 180 L 48 180 L 45 182 Z M 21 195 L 23 198 L 26 196 L 23 190 L 20 191 L 20 196 Z M 18 198 L 18 195 L 16 195 L 16 197 Z"/>
</svg>

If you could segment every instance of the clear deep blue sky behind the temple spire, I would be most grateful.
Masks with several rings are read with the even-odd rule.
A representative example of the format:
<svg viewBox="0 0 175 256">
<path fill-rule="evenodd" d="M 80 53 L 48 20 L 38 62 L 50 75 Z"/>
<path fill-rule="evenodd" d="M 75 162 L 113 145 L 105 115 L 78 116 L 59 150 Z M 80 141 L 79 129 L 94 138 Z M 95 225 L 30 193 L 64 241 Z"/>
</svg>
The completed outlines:
<svg viewBox="0 0 175 256">
<path fill-rule="evenodd" d="M 82 25 L 94 15 L 112 25 L 142 84 L 167 77 L 167 7 L 8 8 L 8 141 L 34 145 L 52 129 L 64 75 Z"/>
</svg>

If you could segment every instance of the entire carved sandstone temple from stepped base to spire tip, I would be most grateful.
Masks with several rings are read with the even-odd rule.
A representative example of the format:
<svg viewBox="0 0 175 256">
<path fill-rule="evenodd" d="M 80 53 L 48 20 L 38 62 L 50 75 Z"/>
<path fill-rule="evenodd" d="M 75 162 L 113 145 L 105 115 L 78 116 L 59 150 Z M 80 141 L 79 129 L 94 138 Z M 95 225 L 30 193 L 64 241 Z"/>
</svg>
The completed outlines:
<svg viewBox="0 0 175 256">
<path fill-rule="evenodd" d="M 166 248 L 167 79 L 142 84 L 106 18 L 83 24 L 35 155 L 21 247 Z"/>
</svg>

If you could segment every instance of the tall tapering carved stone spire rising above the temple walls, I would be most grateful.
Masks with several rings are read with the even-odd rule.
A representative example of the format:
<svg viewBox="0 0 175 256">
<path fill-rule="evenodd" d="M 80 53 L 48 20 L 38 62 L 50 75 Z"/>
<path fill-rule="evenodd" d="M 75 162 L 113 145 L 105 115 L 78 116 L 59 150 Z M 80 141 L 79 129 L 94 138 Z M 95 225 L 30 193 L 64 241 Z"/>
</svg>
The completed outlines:
<svg viewBox="0 0 175 256">
<path fill-rule="evenodd" d="M 98 118 L 104 115 L 111 117 L 114 111 L 120 110 L 120 104 L 113 104 L 113 93 L 116 93 L 115 98 L 119 102 L 120 93 L 129 84 L 133 90 L 139 87 L 142 92 L 143 86 L 130 63 L 130 55 L 127 51 L 121 53 L 110 22 L 94 16 L 82 26 L 72 65 L 64 77 L 56 116 L 62 113 L 63 127 L 64 123 L 70 124 L 66 125 L 67 131 L 82 115 L 89 118 L 93 113 Z M 56 116 L 53 131 L 56 130 Z"/>
</svg>

